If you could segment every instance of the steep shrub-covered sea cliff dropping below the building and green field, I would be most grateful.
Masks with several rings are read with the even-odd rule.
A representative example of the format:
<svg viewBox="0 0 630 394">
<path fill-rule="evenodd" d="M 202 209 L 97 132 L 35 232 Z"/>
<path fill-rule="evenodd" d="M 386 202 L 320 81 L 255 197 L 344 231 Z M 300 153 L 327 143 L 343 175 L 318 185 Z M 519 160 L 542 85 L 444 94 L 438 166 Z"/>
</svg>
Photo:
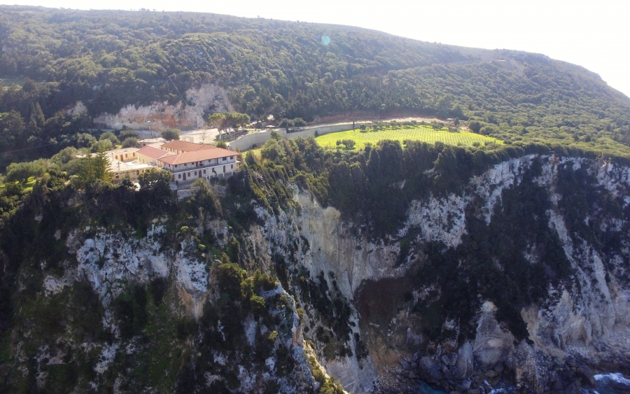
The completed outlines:
<svg viewBox="0 0 630 394">
<path fill-rule="evenodd" d="M 252 200 L 240 221 L 193 197 L 190 227 L 55 232 L 59 264 L 18 274 L 5 386 L 304 393 L 334 376 L 354 393 L 573 393 L 630 372 L 629 167 L 505 160 L 414 199 L 381 238 L 288 187 L 290 204 Z"/>
</svg>

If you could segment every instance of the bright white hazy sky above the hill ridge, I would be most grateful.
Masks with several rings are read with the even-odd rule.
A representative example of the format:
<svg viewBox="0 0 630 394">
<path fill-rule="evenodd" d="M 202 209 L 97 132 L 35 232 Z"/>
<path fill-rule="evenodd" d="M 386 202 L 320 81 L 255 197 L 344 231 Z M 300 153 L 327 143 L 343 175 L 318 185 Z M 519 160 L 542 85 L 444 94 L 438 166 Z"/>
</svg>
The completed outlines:
<svg viewBox="0 0 630 394">
<path fill-rule="evenodd" d="M 348 24 L 422 41 L 539 52 L 580 64 L 630 97 L 630 1 L 0 0 L 3 4 L 198 11 Z"/>
</svg>

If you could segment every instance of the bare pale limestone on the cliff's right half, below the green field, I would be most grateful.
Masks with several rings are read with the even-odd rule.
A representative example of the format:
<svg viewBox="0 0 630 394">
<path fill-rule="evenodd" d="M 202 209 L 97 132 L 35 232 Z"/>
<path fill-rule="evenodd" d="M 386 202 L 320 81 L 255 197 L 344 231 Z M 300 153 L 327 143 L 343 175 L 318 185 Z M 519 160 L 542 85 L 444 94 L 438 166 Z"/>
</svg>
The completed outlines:
<svg viewBox="0 0 630 394">
<path fill-rule="evenodd" d="M 630 256 L 630 240 L 624 240 L 623 255 L 608 255 L 608 262 L 604 262 L 603 256 L 598 255 L 587 241 L 577 237 L 576 244 L 575 234 L 568 233 L 557 208 L 561 198 L 555 191 L 559 165 L 572 162 L 574 170 L 587 169 L 596 176 L 602 188 L 614 197 L 622 197 L 624 207 L 630 204 L 630 169 L 618 164 L 554 155 L 526 155 L 507 160 L 472 178 L 461 195 L 430 196 L 412 202 L 407 221 L 396 236 L 405 237 L 410 231 L 417 230 L 417 241 L 442 241 L 456 248 L 467 233 L 465 215 L 471 204 L 480 207 L 475 210 L 476 214 L 490 223 L 503 190 L 519 185 L 534 160 L 540 160 L 542 164 L 542 172 L 534 181 L 549 190 L 554 206 L 548 212 L 549 227 L 558 234 L 575 269 L 576 285 L 552 288 L 545 303 L 530 305 L 521 311 L 533 345 L 514 344 L 512 334 L 493 317 L 496 307 L 486 302 L 479 311 L 477 338 L 472 344 L 464 344 L 459 351 L 468 355 L 460 362 L 464 370 L 470 367 L 472 360 L 482 369 L 491 369 L 499 362 L 506 363 L 517 374 L 517 379 L 527 382 L 528 390 L 542 392 L 552 375 L 545 366 L 547 356 L 561 360 L 575 355 L 598 359 L 602 351 L 610 351 L 611 345 L 622 346 L 619 351 L 630 349 L 630 290 L 626 283 L 619 283 L 617 276 L 607 275 L 610 269 L 617 274 L 630 269 L 624 265 Z M 272 216 L 263 209 L 258 210 L 258 217 L 265 224 L 253 227 L 253 248 L 262 255 L 272 255 L 283 253 L 286 246 L 295 243 L 299 246 L 297 262 L 306 267 L 313 278 L 318 272 L 332 272 L 348 300 L 354 300 L 363 281 L 403 276 L 409 272 L 409 262 L 421 258 L 412 255 L 400 263 L 397 239 L 366 239 L 362 232 L 353 228 L 353 223 L 341 219 L 339 211 L 330 206 L 322 208 L 307 193 L 296 190 L 295 202 L 300 206 L 299 214 L 288 212 Z M 615 228 L 621 228 L 622 224 L 610 223 Z M 305 252 L 302 238 L 308 245 Z M 347 390 L 356 393 L 370 391 L 370 380 L 382 373 L 373 369 L 372 363 L 370 373 L 365 373 L 351 360 L 322 361 L 330 374 L 334 374 Z"/>
</svg>

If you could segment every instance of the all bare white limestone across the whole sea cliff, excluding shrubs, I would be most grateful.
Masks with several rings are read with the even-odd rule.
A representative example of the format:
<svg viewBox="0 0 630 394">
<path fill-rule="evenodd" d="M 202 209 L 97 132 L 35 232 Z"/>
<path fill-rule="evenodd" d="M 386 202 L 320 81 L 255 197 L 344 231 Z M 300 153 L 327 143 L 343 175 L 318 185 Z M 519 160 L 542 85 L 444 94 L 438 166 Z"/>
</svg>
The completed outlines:
<svg viewBox="0 0 630 394">
<path fill-rule="evenodd" d="M 332 273 L 340 292 L 353 309 L 351 321 L 355 325 L 351 331 L 360 334 L 358 322 L 361 316 L 358 316 L 354 302 L 361 284 L 367 280 L 401 278 L 410 273 L 414 260 L 423 258 L 422 255 L 412 254 L 401 260 L 398 241 L 415 234 L 419 243 L 441 241 L 446 246 L 458 247 L 468 234 L 466 215 L 470 214 L 469 208 L 474 204 L 477 208 L 475 214 L 491 223 L 503 190 L 519 185 L 535 159 L 535 155 L 528 155 L 496 164 L 484 174 L 472 178 L 459 195 L 430 196 L 412 202 L 407 220 L 398 234 L 378 241 L 368 239 L 355 224 L 344 222 L 335 208 L 322 208 L 309 194 L 295 188 L 294 200 L 298 209 L 288 209 L 277 215 L 260 207 L 255 210 L 261 224 L 252 225 L 243 245 L 244 250 L 255 257 L 255 260 L 246 262 L 246 265 L 252 265 L 247 268 L 255 269 L 262 265 L 272 269 L 272 256 L 283 255 L 294 258 L 298 266 L 309 272 L 311 279 L 316 279 L 320 272 L 326 275 Z M 438 346 L 438 353 L 433 358 L 416 360 L 418 364 L 427 365 L 437 380 L 445 376 L 456 379 L 458 387 L 467 387 L 464 391 L 470 389 L 475 393 L 477 388 L 471 386 L 474 379 L 493 381 L 505 364 L 514 370 L 517 380 L 526 382 L 528 390 L 544 392 L 552 376 L 547 367 L 547 356 L 564 360 L 579 355 L 598 360 L 612 352 L 630 350 L 630 290 L 627 283 L 619 280 L 630 270 L 626 266 L 630 258 L 630 239 L 622 239 L 619 255 L 600 255 L 587 240 L 570 234 L 558 208 L 561 196 L 556 192 L 558 166 L 570 161 L 574 169 L 588 169 L 596 176 L 601 188 L 612 196 L 622 197 L 626 207 L 630 204 L 630 169 L 587 159 L 540 156 L 538 160 L 542 164 L 542 172 L 534 181 L 549 192 L 552 209 L 547 212 L 548 225 L 558 234 L 566 257 L 575 270 L 574 285 L 550 288 L 545 302 L 529 305 L 521 311 L 533 344 L 524 341 L 514 343 L 514 336 L 496 320 L 496 306 L 482 300 L 476 317 L 475 340 L 454 345 L 458 348 L 448 353 L 451 356 L 440 353 L 442 348 Z M 609 225 L 622 228 L 624 223 L 611 222 Z M 228 224 L 222 220 L 208 223 L 207 228 L 215 234 L 227 235 L 229 232 Z M 44 287 L 47 294 L 59 293 L 73 281 L 85 280 L 107 307 L 128 281 L 146 283 L 155 276 L 171 276 L 180 289 L 188 314 L 202 314 L 202 304 L 212 286 L 212 278 L 205 269 L 205 262 L 184 252 L 186 241 L 182 251 L 166 254 L 160 251 L 161 245 L 153 237 L 165 231 L 157 224 L 142 239 L 125 238 L 122 234 L 109 234 L 99 229 L 90 230 L 93 235 L 86 238 L 84 235 L 88 230 L 74 232 L 68 237 L 66 245 L 76 255 L 76 268 L 66 269 L 63 276 L 46 276 Z M 198 230 L 203 231 L 202 227 Z M 218 239 L 223 242 L 221 237 Z M 292 302 L 290 335 L 282 340 L 293 349 L 294 358 L 300 365 L 299 373 L 304 374 L 307 381 L 311 378 L 304 370 L 306 360 L 297 305 L 281 286 L 272 293 L 282 293 Z M 267 296 L 272 296 L 272 293 Z M 115 328 L 111 314 L 106 314 L 105 319 L 109 327 Z M 393 321 L 392 329 L 408 322 L 407 319 Z M 255 332 L 256 324 L 254 321 L 244 322 L 246 332 Z M 407 338 L 416 335 L 418 339 L 414 343 L 420 342 L 421 335 L 413 332 L 415 328 L 411 325 L 401 326 L 400 329 L 407 332 Z M 253 340 L 251 335 L 249 337 Z M 356 355 L 352 335 L 349 346 Z M 113 345 L 101 349 L 102 357 L 97 368 L 105 371 L 117 351 L 121 350 Z M 399 360 L 406 356 L 404 351 L 393 351 L 391 354 L 398 355 Z M 217 354 L 216 358 L 221 359 L 221 355 Z M 378 385 L 374 382 L 383 378 L 385 373 L 384 365 L 374 362 L 370 356 L 360 362 L 356 356 L 322 359 L 319 362 L 347 391 L 354 393 L 377 391 Z M 267 363 L 272 365 L 274 360 L 267 360 Z M 239 379 L 245 388 L 255 381 L 250 378 L 245 370 L 241 371 Z M 283 386 L 283 390 L 290 392 L 291 388 Z"/>
</svg>

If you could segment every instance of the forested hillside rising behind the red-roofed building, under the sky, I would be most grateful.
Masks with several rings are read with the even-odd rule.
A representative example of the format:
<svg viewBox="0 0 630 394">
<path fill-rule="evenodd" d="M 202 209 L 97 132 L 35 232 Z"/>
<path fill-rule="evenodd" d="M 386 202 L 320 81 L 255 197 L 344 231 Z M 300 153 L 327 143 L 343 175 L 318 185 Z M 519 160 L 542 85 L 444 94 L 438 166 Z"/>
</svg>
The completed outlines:
<svg viewBox="0 0 630 394">
<path fill-rule="evenodd" d="M 195 105 L 184 92 L 211 83 L 253 120 L 415 113 L 470 120 L 507 143 L 629 155 L 630 99 L 544 55 L 203 13 L 0 11 L 3 152 L 52 144 L 35 154 L 52 155 L 78 146 L 95 116 L 153 101 Z M 86 113 L 59 112 L 76 101 Z"/>
</svg>

